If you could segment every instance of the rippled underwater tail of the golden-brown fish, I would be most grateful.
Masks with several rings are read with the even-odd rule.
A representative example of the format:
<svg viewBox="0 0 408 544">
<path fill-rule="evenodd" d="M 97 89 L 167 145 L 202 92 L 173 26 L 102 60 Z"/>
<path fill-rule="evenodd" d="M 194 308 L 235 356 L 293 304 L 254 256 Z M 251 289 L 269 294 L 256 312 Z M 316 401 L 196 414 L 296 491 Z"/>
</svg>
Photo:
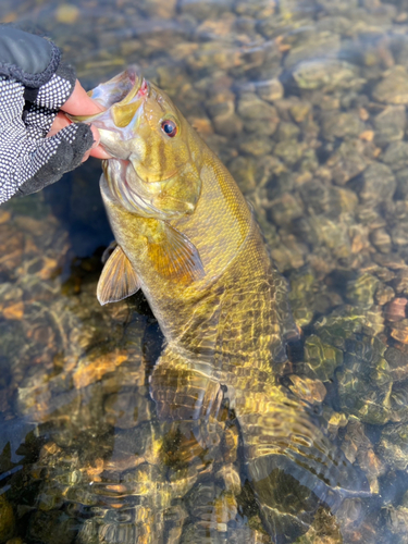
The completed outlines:
<svg viewBox="0 0 408 544">
<path fill-rule="evenodd" d="M 276 386 L 236 403 L 247 463 L 264 526 L 276 544 L 308 531 L 317 510 L 369 497 L 369 484 L 312 422 L 302 404 Z"/>
</svg>

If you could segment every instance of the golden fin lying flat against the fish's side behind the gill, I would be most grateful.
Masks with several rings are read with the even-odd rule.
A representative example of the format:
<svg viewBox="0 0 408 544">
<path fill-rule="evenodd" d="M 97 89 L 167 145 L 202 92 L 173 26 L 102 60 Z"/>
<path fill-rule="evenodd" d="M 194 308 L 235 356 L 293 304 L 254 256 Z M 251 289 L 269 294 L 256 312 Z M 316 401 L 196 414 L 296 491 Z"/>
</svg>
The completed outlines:
<svg viewBox="0 0 408 544">
<path fill-rule="evenodd" d="M 149 257 L 159 274 L 182 283 L 190 283 L 205 275 L 198 250 L 176 228 L 165 223 L 164 236 L 159 243 L 150 243 Z"/>
</svg>

